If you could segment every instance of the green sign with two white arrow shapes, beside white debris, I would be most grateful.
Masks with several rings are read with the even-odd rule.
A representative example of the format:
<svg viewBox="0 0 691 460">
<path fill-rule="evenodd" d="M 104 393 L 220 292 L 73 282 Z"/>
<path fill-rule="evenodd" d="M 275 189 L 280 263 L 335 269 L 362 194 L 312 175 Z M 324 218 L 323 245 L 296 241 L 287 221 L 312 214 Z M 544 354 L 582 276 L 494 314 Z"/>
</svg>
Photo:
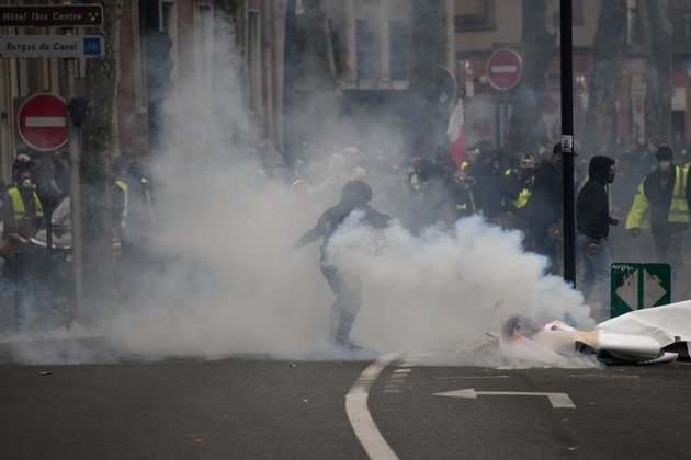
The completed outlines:
<svg viewBox="0 0 691 460">
<path fill-rule="evenodd" d="M 611 274 L 612 318 L 671 302 L 669 264 L 614 263 Z"/>
</svg>

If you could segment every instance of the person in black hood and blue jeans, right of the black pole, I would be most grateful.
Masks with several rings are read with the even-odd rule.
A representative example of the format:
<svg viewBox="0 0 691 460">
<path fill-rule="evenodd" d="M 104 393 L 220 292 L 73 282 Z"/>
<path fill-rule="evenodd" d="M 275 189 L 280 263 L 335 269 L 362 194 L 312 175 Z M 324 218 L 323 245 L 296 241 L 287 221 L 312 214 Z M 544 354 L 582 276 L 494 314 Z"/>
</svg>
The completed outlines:
<svg viewBox="0 0 691 460">
<path fill-rule="evenodd" d="M 590 160 L 588 182 L 576 199 L 576 230 L 578 250 L 584 261 L 584 277 L 579 289 L 584 299 L 594 289 L 596 279 L 600 284 L 601 319 L 610 318 L 610 265 L 612 257 L 607 239 L 610 226 L 621 221 L 610 216 L 608 186 L 614 182 L 614 163 L 609 157 L 597 156 Z"/>
</svg>

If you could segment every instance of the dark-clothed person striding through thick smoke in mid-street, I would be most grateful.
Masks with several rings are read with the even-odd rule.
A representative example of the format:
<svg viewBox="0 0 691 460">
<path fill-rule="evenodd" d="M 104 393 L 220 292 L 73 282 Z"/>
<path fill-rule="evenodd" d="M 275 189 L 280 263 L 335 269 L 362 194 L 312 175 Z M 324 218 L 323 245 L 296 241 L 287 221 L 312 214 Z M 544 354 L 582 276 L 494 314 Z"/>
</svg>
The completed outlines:
<svg viewBox="0 0 691 460">
<path fill-rule="evenodd" d="M 350 353 L 362 349 L 350 340 L 350 331 L 362 301 L 360 275 L 338 266 L 328 257 L 327 250 L 330 238 L 341 228 L 353 210 L 364 211 L 362 221 L 373 228 L 389 226 L 392 218 L 372 208 L 372 188 L 365 182 L 360 180 L 347 182 L 341 189 L 339 204 L 327 209 L 317 220 L 317 225 L 297 239 L 284 253 L 284 257 L 287 258 L 298 249 L 321 239 L 321 274 L 336 295 L 331 307 L 331 338 L 338 349 Z"/>
</svg>

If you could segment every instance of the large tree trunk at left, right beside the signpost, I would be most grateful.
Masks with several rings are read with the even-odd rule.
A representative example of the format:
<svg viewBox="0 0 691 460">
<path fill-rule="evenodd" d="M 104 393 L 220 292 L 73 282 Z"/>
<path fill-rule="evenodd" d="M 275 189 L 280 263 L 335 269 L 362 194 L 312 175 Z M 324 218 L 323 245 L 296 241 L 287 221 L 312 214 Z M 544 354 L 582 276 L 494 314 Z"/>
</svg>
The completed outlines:
<svg viewBox="0 0 691 460">
<path fill-rule="evenodd" d="M 120 22 L 124 0 L 104 0 L 105 56 L 87 59 L 86 99 L 89 101 L 81 130 L 81 219 L 83 235 L 84 302 L 90 314 L 114 300 L 113 223 L 110 194 L 117 84 L 120 82 Z"/>
</svg>

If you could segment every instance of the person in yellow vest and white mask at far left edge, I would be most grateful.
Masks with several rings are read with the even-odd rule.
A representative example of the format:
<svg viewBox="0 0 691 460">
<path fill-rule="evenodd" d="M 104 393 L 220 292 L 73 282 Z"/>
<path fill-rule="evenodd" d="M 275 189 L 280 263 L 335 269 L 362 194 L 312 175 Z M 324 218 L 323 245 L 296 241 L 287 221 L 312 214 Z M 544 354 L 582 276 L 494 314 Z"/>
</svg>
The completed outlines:
<svg viewBox="0 0 691 460">
<path fill-rule="evenodd" d="M 32 187 L 31 172 L 22 171 L 18 179 L 18 183 L 4 194 L 2 240 L 14 235 L 19 238 L 14 240 L 14 258 L 4 262 L 2 276 L 15 283 L 14 329 L 19 332 L 24 329 L 25 313 L 31 310 L 31 278 L 35 265 L 31 253 L 24 251 L 22 240 L 25 242 L 38 232 L 43 223 L 43 207 Z"/>
</svg>

